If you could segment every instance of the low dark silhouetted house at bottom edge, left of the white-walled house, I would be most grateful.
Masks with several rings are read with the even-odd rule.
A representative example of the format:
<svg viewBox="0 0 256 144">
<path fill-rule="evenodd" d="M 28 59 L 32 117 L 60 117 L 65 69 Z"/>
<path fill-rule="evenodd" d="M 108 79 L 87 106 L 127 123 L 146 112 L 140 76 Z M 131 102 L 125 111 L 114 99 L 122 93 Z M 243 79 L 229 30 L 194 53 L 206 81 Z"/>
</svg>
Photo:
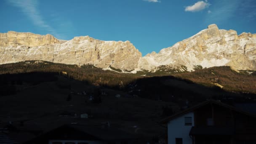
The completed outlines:
<svg viewBox="0 0 256 144">
<path fill-rule="evenodd" d="M 68 124 L 24 144 L 133 144 L 138 137 L 115 128 Z"/>
</svg>

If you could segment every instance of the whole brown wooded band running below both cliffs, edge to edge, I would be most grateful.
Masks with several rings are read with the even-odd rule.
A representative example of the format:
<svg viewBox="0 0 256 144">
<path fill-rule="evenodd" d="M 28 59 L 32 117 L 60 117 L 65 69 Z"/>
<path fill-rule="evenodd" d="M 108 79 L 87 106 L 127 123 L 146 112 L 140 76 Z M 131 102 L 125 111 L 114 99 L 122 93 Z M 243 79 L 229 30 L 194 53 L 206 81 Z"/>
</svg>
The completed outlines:
<svg viewBox="0 0 256 144">
<path fill-rule="evenodd" d="M 155 86 L 155 91 L 157 93 L 157 88 L 161 88 L 156 83 L 167 79 L 172 79 L 170 81 L 165 81 L 165 84 L 171 84 L 174 86 L 187 87 L 186 83 L 197 83 L 199 89 L 204 89 L 208 87 L 223 88 L 225 91 L 239 92 L 239 93 L 256 93 L 256 76 L 255 71 L 235 71 L 230 67 L 212 67 L 208 69 L 198 69 L 195 72 L 181 72 L 178 74 L 172 74 L 174 77 L 163 75 L 170 75 L 161 72 L 147 72 L 144 71 L 137 74 L 125 73 L 120 69 L 110 69 L 103 70 L 92 65 L 66 65 L 66 64 L 56 64 L 48 61 L 24 61 L 13 64 L 2 64 L 0 65 L 0 74 L 19 74 L 28 72 L 53 72 L 58 75 L 65 75 L 70 78 L 85 81 L 85 83 L 90 83 L 94 85 L 101 85 L 110 88 L 121 88 L 127 89 L 128 85 L 134 85 L 136 81 L 150 80 L 150 82 L 143 82 L 144 85 Z M 239 72 L 239 73 L 238 73 Z M 148 76 L 141 76 L 147 74 Z M 155 77 L 157 76 L 157 77 Z M 177 78 L 178 77 L 178 78 Z M 155 82 L 154 82 L 155 80 Z M 178 80 L 178 81 L 177 81 Z M 162 83 L 162 82 L 161 82 Z M 195 85 L 195 84 L 193 84 Z M 202 85 L 204 85 L 202 87 Z M 205 87 L 206 86 L 206 87 Z M 188 86 L 191 90 L 194 88 Z M 168 89 L 168 88 L 167 88 Z M 181 90 L 182 91 L 182 90 Z M 213 92 L 212 92 L 213 93 Z M 205 95 L 205 94 L 203 94 Z"/>
</svg>

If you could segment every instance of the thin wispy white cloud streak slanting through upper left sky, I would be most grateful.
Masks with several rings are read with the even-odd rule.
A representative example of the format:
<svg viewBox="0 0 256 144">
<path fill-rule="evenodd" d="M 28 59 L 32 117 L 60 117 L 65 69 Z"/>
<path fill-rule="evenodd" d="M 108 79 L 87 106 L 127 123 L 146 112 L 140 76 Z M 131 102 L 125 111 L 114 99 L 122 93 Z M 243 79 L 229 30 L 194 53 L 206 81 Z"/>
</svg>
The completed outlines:
<svg viewBox="0 0 256 144">
<path fill-rule="evenodd" d="M 60 37 L 56 30 L 43 20 L 43 17 L 37 9 L 37 0 L 7 0 L 7 2 L 15 7 L 20 8 L 21 11 L 27 15 L 37 27 L 45 29 L 55 37 Z"/>
</svg>

